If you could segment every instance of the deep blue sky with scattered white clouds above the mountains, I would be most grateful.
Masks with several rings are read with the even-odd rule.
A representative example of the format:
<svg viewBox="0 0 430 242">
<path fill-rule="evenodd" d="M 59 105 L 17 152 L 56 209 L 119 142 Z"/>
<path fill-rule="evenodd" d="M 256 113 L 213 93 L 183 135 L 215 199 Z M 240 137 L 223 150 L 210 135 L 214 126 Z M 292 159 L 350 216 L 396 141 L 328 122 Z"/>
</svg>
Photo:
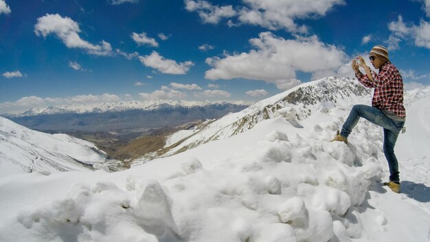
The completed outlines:
<svg viewBox="0 0 430 242">
<path fill-rule="evenodd" d="M 0 113 L 261 100 L 352 76 L 378 44 L 408 89 L 429 86 L 430 1 L 0 0 Z"/>
</svg>

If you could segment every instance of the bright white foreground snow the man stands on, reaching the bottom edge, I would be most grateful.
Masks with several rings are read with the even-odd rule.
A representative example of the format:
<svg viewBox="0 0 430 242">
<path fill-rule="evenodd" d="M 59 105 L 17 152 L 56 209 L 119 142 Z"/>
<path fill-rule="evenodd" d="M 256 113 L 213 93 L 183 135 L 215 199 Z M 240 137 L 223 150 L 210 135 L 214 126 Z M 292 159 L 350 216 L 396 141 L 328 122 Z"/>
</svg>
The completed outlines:
<svg viewBox="0 0 430 242">
<path fill-rule="evenodd" d="M 328 142 L 351 102 L 304 120 L 288 108 L 116 173 L 2 177 L 0 241 L 430 241 L 430 91 L 406 97 L 400 194 L 382 185 L 381 128 L 361 120 L 350 144 Z"/>
</svg>

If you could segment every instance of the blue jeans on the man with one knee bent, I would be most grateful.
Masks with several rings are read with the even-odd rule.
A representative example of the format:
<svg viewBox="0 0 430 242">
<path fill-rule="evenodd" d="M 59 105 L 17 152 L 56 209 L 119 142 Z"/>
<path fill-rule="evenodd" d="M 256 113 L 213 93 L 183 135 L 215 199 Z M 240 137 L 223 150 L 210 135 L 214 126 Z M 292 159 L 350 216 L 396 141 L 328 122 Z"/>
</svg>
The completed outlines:
<svg viewBox="0 0 430 242">
<path fill-rule="evenodd" d="M 398 162 L 396 155 L 394 155 L 394 146 L 396 145 L 397 136 L 403 129 L 405 122 L 388 118 L 381 109 L 377 109 L 376 107 L 354 105 L 350 115 L 348 115 L 346 122 L 342 126 L 341 135 L 343 137 L 348 137 L 360 118 L 365 118 L 384 128 L 384 154 L 389 166 L 389 180 L 400 183 Z"/>
</svg>

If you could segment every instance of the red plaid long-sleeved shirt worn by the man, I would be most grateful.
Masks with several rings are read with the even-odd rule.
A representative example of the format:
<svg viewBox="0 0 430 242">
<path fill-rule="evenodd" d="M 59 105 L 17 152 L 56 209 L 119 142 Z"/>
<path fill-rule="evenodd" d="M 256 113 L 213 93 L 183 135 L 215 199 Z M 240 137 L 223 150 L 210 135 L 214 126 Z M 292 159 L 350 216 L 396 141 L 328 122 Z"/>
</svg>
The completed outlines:
<svg viewBox="0 0 430 242">
<path fill-rule="evenodd" d="M 379 74 L 371 71 L 373 80 L 367 75 L 356 74 L 359 82 L 365 87 L 374 88 L 372 107 L 385 109 L 395 113 L 400 118 L 405 118 L 406 111 L 403 107 L 403 78 L 398 69 L 387 61 L 381 68 Z"/>
</svg>

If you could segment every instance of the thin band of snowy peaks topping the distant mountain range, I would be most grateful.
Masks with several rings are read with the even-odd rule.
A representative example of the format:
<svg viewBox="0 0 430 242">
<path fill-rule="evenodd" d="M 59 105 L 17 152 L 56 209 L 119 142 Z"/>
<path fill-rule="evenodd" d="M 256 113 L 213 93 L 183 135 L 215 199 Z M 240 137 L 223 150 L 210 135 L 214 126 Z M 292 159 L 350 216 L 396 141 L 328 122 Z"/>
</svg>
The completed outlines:
<svg viewBox="0 0 430 242">
<path fill-rule="evenodd" d="M 30 109 L 28 111 L 8 113 L 10 117 L 23 117 L 34 115 L 52 115 L 60 113 L 105 113 L 120 112 L 127 110 L 158 110 L 158 109 L 176 109 L 190 107 L 206 107 L 212 105 L 238 105 L 246 106 L 252 102 L 245 101 L 183 101 L 183 100 L 152 100 L 152 101 L 127 101 L 127 102 L 108 102 L 102 104 L 77 104 L 64 105 L 58 107 L 42 107 Z"/>
</svg>

